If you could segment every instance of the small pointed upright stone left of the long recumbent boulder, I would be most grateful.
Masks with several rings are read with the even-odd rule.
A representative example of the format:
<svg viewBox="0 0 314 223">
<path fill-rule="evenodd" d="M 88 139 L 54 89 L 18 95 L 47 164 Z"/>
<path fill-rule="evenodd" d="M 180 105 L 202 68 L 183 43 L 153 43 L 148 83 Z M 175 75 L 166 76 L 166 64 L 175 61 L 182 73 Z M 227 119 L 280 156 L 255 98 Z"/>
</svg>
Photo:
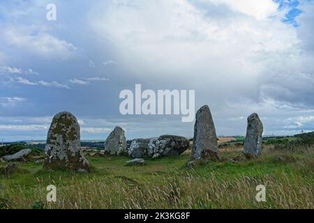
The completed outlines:
<svg viewBox="0 0 314 223">
<path fill-rule="evenodd" d="M 124 136 L 124 130 L 117 126 L 105 141 L 105 154 L 111 155 L 128 155 L 126 149 L 126 137 Z"/>
</svg>

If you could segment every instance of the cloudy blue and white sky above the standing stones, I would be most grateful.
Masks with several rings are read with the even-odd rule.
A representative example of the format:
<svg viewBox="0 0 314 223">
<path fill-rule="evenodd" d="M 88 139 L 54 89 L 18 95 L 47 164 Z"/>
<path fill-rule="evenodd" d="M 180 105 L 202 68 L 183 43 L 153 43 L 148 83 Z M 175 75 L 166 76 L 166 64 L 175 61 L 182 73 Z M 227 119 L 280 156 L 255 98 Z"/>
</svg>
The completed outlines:
<svg viewBox="0 0 314 223">
<path fill-rule="evenodd" d="M 57 20 L 47 20 L 47 4 Z M 314 130 L 314 1 L 2 0 L 0 139 L 46 139 L 73 113 L 82 139 L 193 136 L 181 115 L 121 115 L 124 89 L 195 90 L 218 135 Z"/>
</svg>

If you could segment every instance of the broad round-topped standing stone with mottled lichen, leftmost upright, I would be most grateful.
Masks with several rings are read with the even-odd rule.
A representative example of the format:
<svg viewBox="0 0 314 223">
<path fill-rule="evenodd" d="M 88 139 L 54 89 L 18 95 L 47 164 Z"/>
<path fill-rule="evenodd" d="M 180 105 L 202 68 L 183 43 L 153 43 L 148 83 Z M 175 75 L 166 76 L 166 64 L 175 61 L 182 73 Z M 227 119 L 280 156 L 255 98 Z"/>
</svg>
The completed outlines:
<svg viewBox="0 0 314 223">
<path fill-rule="evenodd" d="M 89 162 L 81 148 L 80 125 L 70 112 L 60 112 L 52 119 L 47 134 L 44 167 L 89 171 Z"/>
</svg>

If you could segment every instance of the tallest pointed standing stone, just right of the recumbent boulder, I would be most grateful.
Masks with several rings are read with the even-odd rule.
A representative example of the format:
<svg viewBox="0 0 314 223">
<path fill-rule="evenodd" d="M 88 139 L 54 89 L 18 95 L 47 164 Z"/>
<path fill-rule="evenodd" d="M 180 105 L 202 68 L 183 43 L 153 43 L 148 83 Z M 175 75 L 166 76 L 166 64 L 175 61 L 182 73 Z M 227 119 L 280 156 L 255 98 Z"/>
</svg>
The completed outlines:
<svg viewBox="0 0 314 223">
<path fill-rule="evenodd" d="M 216 129 L 207 105 L 196 113 L 192 160 L 219 160 Z"/>
</svg>

